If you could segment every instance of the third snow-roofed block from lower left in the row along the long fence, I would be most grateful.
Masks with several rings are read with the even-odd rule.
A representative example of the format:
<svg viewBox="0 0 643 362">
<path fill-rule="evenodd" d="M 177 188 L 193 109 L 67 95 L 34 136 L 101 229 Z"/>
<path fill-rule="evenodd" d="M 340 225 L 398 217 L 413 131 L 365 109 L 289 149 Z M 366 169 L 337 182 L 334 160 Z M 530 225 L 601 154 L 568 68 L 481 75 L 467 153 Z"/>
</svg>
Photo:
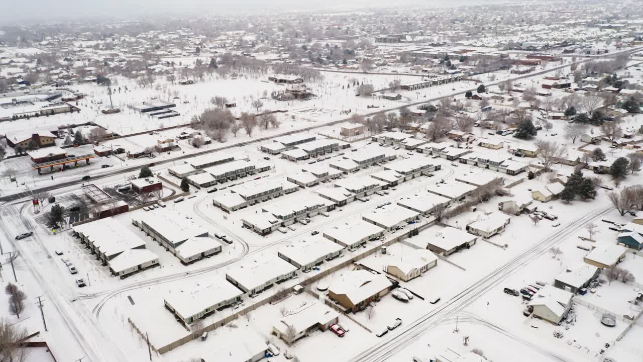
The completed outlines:
<svg viewBox="0 0 643 362">
<path fill-rule="evenodd" d="M 293 245 L 282 247 L 277 252 L 277 255 L 303 272 L 307 272 L 324 261 L 339 258 L 343 254 L 343 250 L 342 245 L 318 234 L 305 236 L 305 238 L 293 243 Z"/>
</svg>

